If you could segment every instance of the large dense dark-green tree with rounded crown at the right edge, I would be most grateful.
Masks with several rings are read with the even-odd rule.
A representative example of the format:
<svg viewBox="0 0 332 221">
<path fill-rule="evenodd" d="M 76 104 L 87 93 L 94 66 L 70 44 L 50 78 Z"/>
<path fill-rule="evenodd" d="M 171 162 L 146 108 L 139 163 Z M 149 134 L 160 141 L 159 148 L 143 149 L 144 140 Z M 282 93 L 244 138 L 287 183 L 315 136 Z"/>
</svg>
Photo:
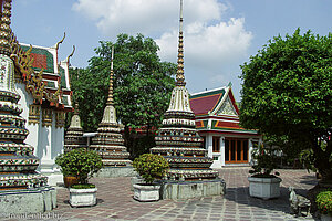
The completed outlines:
<svg viewBox="0 0 332 221">
<path fill-rule="evenodd" d="M 241 125 L 312 149 L 332 181 L 332 34 L 276 36 L 241 69 Z"/>
</svg>

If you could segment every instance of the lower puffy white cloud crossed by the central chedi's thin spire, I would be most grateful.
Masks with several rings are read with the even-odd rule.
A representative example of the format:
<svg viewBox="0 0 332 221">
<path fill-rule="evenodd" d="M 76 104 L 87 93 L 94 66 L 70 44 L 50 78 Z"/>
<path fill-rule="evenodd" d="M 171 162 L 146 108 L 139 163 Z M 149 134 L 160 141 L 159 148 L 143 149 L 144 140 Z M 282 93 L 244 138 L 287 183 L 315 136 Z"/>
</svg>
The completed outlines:
<svg viewBox="0 0 332 221">
<path fill-rule="evenodd" d="M 185 29 L 185 57 L 188 65 L 219 66 L 246 55 L 252 34 L 245 30 L 245 19 L 230 19 L 207 25 L 194 22 Z M 175 61 L 178 31 L 164 33 L 156 42 L 162 59 Z"/>
</svg>

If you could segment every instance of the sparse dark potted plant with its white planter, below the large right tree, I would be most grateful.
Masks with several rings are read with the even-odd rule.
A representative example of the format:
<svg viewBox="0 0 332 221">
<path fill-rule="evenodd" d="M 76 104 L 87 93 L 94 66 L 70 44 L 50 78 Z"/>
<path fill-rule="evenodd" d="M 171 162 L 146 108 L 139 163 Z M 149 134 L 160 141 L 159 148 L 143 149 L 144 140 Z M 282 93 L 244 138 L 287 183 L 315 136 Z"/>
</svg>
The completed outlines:
<svg viewBox="0 0 332 221">
<path fill-rule="evenodd" d="M 272 173 L 277 167 L 273 150 L 260 146 L 252 152 L 252 157 L 257 164 L 249 170 L 249 194 L 262 199 L 278 198 L 282 179 L 277 177 L 279 172 Z"/>
</svg>

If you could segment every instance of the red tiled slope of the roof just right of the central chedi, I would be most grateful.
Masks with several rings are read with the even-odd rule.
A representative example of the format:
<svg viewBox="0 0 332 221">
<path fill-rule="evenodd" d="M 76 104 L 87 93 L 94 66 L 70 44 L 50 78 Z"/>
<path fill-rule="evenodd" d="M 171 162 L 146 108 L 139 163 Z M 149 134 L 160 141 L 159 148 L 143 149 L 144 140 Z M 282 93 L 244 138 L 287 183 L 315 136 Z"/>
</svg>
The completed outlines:
<svg viewBox="0 0 332 221">
<path fill-rule="evenodd" d="M 222 97 L 222 93 L 190 98 L 190 107 L 195 115 L 208 114 L 209 110 L 212 110 L 218 104 L 219 99 Z"/>
</svg>

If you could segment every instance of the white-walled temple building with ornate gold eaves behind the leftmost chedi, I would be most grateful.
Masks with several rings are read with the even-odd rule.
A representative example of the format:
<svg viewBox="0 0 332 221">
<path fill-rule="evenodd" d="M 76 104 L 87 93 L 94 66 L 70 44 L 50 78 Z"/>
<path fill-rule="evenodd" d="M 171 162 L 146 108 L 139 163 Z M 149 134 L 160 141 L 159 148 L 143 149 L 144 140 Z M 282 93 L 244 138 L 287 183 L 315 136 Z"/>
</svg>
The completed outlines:
<svg viewBox="0 0 332 221">
<path fill-rule="evenodd" d="M 63 152 L 65 113 L 73 109 L 69 77 L 73 53 L 64 61 L 58 61 L 59 45 L 63 40 L 64 36 L 51 48 L 17 42 L 18 59 L 22 63 L 25 60 L 23 64 L 31 70 L 30 73 L 15 74 L 15 87 L 22 97 L 19 104 L 30 131 L 27 143 L 35 147 L 34 154 L 41 159 L 38 170 L 49 177 L 51 186 L 62 182 L 55 157 Z"/>
</svg>

